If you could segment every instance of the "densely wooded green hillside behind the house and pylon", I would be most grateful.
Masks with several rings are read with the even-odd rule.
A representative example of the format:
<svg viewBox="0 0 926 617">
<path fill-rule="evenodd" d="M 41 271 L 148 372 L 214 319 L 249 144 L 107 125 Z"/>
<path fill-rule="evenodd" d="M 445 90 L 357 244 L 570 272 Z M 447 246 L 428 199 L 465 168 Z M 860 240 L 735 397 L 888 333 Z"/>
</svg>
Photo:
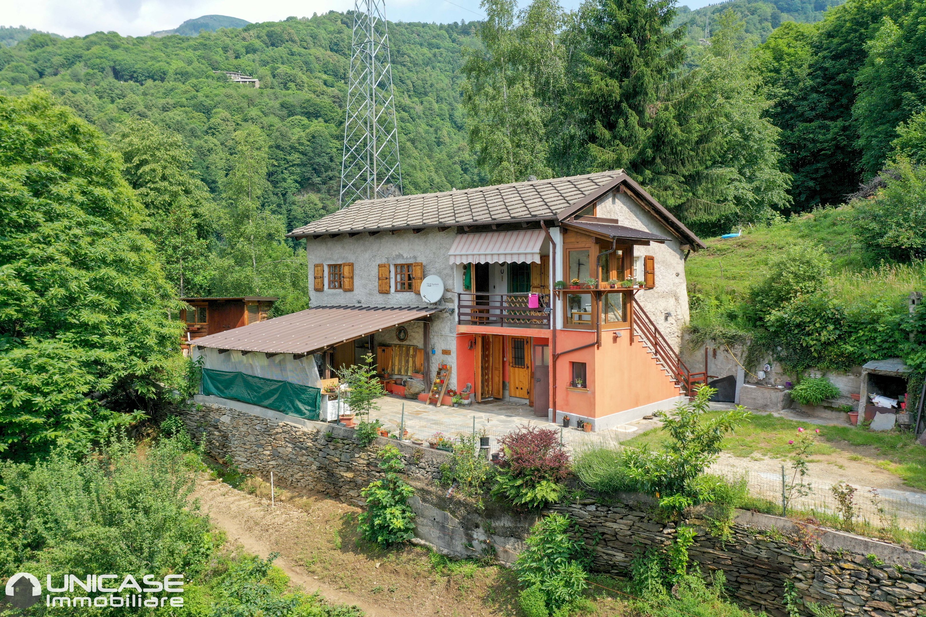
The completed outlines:
<svg viewBox="0 0 926 617">
<path fill-rule="evenodd" d="M 305 252 L 283 235 L 337 206 L 352 19 L 194 38 L 37 34 L 0 50 L 0 92 L 41 84 L 111 137 L 178 291 L 278 295 L 277 311 L 297 310 Z M 470 27 L 399 23 L 390 37 L 405 191 L 481 183 L 459 105 Z M 259 181 L 243 192 L 243 175 Z"/>
</svg>

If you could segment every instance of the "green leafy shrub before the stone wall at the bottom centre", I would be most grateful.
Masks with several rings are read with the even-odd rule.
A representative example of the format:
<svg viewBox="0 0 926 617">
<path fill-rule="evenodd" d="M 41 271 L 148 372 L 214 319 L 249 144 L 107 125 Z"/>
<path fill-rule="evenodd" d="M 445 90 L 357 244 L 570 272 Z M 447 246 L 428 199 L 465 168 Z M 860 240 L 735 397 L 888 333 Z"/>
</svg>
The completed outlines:
<svg viewBox="0 0 926 617">
<path fill-rule="evenodd" d="M 538 610 L 540 594 L 546 611 L 559 614 L 568 612 L 569 606 L 582 598 L 582 590 L 588 586 L 589 554 L 581 534 L 581 528 L 563 514 L 550 514 L 533 525 L 525 540 L 527 548 L 514 565 L 521 586 L 533 590 L 519 598 L 526 615 L 546 614 Z"/>
</svg>

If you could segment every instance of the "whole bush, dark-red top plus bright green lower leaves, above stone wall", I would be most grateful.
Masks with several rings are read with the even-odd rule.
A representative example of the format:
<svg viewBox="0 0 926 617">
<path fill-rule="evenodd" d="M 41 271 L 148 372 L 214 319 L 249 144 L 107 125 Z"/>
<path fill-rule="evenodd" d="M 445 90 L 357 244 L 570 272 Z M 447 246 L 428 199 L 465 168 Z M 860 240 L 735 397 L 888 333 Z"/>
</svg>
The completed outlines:
<svg viewBox="0 0 926 617">
<path fill-rule="evenodd" d="M 550 428 L 521 426 L 501 439 L 502 457 L 492 488 L 494 498 L 520 508 L 556 503 L 566 492 L 561 483 L 569 475 L 569 454 L 559 447 Z"/>
</svg>

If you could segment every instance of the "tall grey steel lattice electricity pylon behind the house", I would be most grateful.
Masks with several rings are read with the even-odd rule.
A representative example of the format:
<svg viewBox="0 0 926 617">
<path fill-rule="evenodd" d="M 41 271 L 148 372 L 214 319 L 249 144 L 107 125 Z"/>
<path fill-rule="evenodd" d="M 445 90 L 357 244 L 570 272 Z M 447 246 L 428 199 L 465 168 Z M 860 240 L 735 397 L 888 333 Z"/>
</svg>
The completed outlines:
<svg viewBox="0 0 926 617">
<path fill-rule="evenodd" d="M 385 1 L 356 0 L 339 203 L 401 194 Z"/>
</svg>

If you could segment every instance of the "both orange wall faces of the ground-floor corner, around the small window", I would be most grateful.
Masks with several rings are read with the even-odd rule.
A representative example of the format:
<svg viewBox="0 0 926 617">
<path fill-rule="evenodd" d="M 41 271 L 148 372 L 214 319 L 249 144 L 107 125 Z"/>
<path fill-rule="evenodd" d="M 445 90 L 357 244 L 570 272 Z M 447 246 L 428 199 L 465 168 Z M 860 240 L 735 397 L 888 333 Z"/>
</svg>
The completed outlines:
<svg viewBox="0 0 926 617">
<path fill-rule="evenodd" d="M 614 333 L 622 336 L 615 339 Z M 557 330 L 557 352 L 594 342 L 594 332 Z M 568 389 L 572 379 L 570 362 L 586 364 L 588 392 Z M 643 343 L 630 344 L 630 330 L 605 330 L 601 348 L 586 347 L 557 359 L 557 411 L 601 418 L 652 402 L 679 396 Z"/>
</svg>

